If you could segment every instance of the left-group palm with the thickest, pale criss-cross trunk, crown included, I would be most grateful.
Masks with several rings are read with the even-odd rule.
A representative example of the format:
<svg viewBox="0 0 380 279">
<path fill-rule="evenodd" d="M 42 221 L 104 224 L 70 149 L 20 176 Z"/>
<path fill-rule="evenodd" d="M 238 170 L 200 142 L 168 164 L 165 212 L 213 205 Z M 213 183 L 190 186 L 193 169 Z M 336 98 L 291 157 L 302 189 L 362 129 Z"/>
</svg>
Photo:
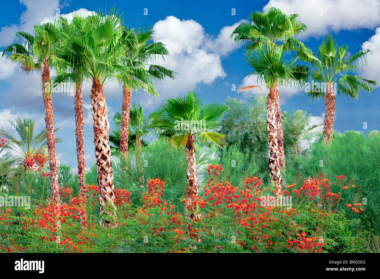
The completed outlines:
<svg viewBox="0 0 380 279">
<path fill-rule="evenodd" d="M 92 82 L 90 98 L 100 189 L 100 224 L 104 227 L 114 227 L 116 208 L 109 121 L 103 87 L 116 74 L 127 75 L 130 70 L 118 61 L 125 53 L 125 47 L 120 43 L 120 15 L 115 13 L 114 9 L 109 10 L 108 14 L 98 11 L 92 16 L 92 20 L 84 20 L 83 24 L 87 30 L 84 35 L 75 28 L 65 28 L 57 32 L 57 37 L 62 42 L 61 48 L 65 55 L 70 57 L 71 61 L 81 64 L 83 77 Z"/>
</svg>

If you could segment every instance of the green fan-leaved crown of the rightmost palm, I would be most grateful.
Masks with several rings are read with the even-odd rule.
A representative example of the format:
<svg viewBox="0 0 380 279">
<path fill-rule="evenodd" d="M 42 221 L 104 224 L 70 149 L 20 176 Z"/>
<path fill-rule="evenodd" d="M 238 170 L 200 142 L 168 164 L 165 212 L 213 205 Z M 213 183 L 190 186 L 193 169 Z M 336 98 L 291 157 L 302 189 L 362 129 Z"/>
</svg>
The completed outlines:
<svg viewBox="0 0 380 279">
<path fill-rule="evenodd" d="M 327 35 L 318 47 L 318 63 L 314 69 L 311 70 L 310 76 L 314 81 L 318 82 L 307 91 L 307 95 L 312 99 L 320 99 L 325 97 L 326 88 L 324 83 L 336 83 L 337 95 L 340 93 L 349 96 L 350 98 L 358 98 L 359 90 L 366 90 L 371 92 L 372 88 L 369 86 L 377 85 L 374 80 L 365 79 L 356 76 L 355 73 L 358 68 L 358 60 L 363 63 L 367 62 L 367 53 L 369 49 L 363 49 L 358 53 L 349 57 L 347 53 L 348 47 L 344 44 L 337 46 L 337 43 L 331 35 Z"/>
</svg>

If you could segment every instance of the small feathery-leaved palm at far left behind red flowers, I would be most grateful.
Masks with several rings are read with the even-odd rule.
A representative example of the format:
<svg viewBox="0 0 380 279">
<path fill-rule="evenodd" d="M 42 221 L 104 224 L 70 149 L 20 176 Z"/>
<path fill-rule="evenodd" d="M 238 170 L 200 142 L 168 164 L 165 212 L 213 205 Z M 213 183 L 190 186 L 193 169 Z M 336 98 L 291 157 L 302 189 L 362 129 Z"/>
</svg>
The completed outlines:
<svg viewBox="0 0 380 279">
<path fill-rule="evenodd" d="M 36 121 L 37 119 L 32 120 L 29 118 L 24 118 L 23 120 L 17 118 L 16 122 L 9 121 L 16 130 L 18 139 L 12 136 L 11 133 L 5 131 L 3 128 L 0 129 L 0 136 L 8 139 L 5 147 L 19 154 L 19 157 L 16 157 L 15 162 L 18 164 L 24 164 L 25 172 L 34 171 L 34 164 L 27 164 L 28 160 L 33 159 L 33 154 L 41 153 L 48 147 L 46 129 L 43 129 L 34 136 Z M 60 128 L 55 128 L 54 132 L 59 130 Z M 56 138 L 55 142 L 63 141 L 60 138 Z"/>
</svg>

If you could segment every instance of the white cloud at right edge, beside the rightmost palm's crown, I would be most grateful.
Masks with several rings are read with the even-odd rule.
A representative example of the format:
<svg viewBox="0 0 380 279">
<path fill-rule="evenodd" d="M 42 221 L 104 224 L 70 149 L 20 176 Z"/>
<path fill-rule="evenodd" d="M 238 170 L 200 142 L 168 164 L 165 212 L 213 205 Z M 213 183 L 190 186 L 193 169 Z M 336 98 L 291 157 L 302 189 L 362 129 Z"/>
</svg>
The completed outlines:
<svg viewBox="0 0 380 279">
<path fill-rule="evenodd" d="M 367 54 L 367 65 L 359 69 L 360 76 L 380 82 L 380 27 L 376 28 L 375 35 L 361 45 L 362 49 L 370 49 Z M 360 64 L 359 64 L 360 65 Z"/>
</svg>

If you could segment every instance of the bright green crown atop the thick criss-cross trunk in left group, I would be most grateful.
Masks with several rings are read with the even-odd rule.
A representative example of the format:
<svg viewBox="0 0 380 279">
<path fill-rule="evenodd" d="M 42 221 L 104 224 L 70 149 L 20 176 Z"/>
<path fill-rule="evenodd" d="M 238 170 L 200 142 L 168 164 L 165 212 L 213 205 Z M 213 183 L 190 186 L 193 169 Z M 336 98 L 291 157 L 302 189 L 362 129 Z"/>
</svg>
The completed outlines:
<svg viewBox="0 0 380 279">
<path fill-rule="evenodd" d="M 120 16 L 113 9 L 109 14 L 99 11 L 86 19 L 76 15 L 71 23 L 61 24 L 57 31 L 61 43 L 57 55 L 74 65 L 76 74 L 80 72 L 84 78 L 100 80 L 104 85 L 115 74 L 128 72 L 118 61 L 124 53 L 120 44 L 122 27 Z"/>
</svg>

